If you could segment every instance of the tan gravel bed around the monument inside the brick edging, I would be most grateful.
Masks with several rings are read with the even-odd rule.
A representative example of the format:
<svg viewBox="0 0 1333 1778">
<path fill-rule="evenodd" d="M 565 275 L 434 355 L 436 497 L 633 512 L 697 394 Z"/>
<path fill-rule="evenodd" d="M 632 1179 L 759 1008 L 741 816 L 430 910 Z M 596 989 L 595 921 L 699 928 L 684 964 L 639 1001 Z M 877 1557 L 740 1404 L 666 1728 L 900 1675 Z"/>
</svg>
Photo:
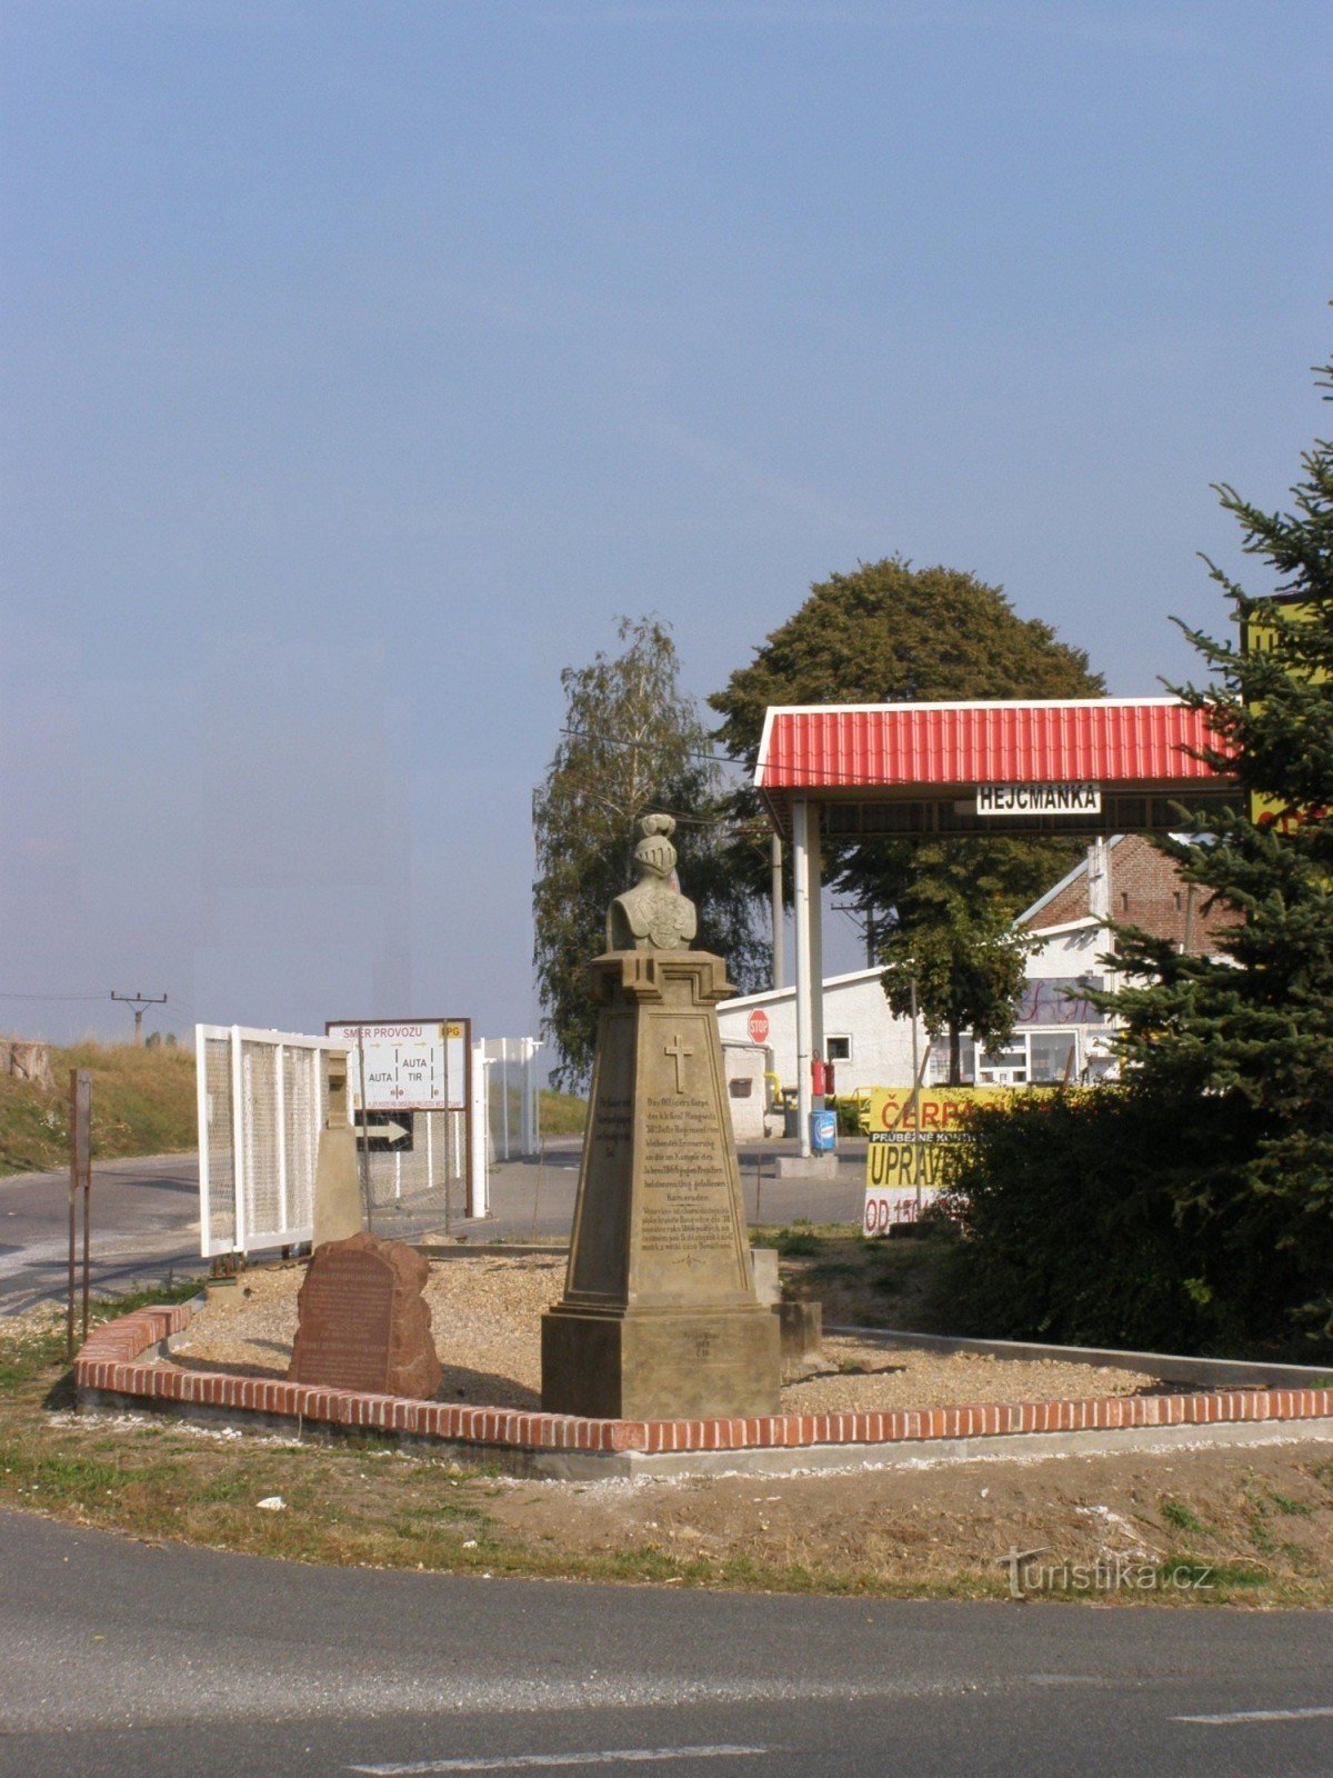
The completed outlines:
<svg viewBox="0 0 1333 1778">
<path fill-rule="evenodd" d="M 299 1264 L 247 1271 L 196 1310 L 174 1362 L 249 1376 L 284 1376 L 297 1332 Z M 540 1314 L 563 1289 L 556 1255 L 476 1253 L 432 1264 L 435 1348 L 444 1367 L 439 1401 L 540 1406 Z M 1153 1378 L 1104 1366 L 928 1353 L 844 1335 L 825 1339 L 826 1369 L 782 1390 L 787 1414 L 940 1408 L 985 1401 L 1132 1396 Z"/>
</svg>

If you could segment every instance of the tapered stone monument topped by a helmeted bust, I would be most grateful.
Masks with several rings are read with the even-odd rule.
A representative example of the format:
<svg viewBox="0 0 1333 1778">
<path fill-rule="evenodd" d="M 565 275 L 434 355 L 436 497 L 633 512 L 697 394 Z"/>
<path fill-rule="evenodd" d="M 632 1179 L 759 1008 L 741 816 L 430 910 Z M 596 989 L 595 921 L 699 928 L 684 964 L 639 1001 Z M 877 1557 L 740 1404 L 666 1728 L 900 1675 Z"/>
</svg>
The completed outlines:
<svg viewBox="0 0 1333 1778">
<path fill-rule="evenodd" d="M 679 1419 L 775 1414 L 778 1323 L 759 1303 L 714 1006 L 727 965 L 688 949 L 675 821 L 649 814 L 638 884 L 592 964 L 597 1060 L 563 1298 L 542 1316 L 542 1406 Z"/>
</svg>

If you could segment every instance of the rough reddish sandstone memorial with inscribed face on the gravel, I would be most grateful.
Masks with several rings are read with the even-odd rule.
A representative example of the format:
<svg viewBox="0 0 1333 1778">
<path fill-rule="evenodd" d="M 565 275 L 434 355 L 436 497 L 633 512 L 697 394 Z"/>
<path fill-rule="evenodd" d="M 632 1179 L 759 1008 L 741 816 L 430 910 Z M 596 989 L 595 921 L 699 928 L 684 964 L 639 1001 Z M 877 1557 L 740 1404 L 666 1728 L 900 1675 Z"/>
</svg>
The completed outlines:
<svg viewBox="0 0 1333 1778">
<path fill-rule="evenodd" d="M 288 1380 L 428 1401 L 439 1357 L 421 1291 L 430 1266 L 402 1241 L 352 1234 L 315 1250 L 297 1296 Z"/>
</svg>

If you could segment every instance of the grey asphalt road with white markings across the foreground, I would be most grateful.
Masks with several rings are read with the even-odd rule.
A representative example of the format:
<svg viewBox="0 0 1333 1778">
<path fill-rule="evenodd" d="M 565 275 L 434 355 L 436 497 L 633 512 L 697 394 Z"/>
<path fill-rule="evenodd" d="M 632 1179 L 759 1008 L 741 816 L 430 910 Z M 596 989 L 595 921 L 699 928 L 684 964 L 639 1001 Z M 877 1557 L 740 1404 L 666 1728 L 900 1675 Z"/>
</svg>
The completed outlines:
<svg viewBox="0 0 1333 1778">
<path fill-rule="evenodd" d="M 304 1568 L 0 1513 L 0 1778 L 1333 1771 L 1326 1614 Z"/>
</svg>

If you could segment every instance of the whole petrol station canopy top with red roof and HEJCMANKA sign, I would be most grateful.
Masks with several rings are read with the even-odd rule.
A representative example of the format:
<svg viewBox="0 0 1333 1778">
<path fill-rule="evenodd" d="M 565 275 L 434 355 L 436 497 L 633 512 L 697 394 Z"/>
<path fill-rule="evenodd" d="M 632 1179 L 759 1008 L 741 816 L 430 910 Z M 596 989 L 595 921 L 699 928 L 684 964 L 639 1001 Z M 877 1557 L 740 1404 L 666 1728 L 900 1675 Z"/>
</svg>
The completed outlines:
<svg viewBox="0 0 1333 1778">
<path fill-rule="evenodd" d="M 786 837 L 798 802 L 826 839 L 1168 832 L 1242 802 L 1207 747 L 1175 697 L 773 706 L 755 786 Z"/>
</svg>

